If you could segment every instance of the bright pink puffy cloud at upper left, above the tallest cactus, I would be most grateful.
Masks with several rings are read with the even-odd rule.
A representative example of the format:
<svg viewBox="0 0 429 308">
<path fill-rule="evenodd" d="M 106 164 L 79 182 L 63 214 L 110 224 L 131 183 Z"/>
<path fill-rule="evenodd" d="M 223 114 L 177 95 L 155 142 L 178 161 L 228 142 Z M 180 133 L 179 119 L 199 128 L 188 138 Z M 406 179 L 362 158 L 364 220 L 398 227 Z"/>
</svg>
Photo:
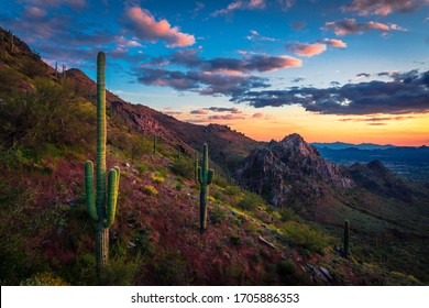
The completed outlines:
<svg viewBox="0 0 429 308">
<path fill-rule="evenodd" d="M 140 7 L 125 9 L 123 25 L 139 40 L 156 43 L 164 41 L 167 47 L 186 47 L 195 44 L 191 34 L 180 32 L 179 28 L 173 26 L 167 20 L 155 21 L 150 11 Z"/>
</svg>

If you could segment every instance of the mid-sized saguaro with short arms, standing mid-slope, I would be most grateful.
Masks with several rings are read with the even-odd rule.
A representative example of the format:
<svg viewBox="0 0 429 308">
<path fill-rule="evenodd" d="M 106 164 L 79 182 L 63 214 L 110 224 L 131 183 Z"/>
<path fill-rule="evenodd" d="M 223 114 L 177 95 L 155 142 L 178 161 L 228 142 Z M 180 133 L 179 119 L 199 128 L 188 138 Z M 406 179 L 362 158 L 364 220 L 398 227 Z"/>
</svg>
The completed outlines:
<svg viewBox="0 0 429 308">
<path fill-rule="evenodd" d="M 209 169 L 209 148 L 207 143 L 202 146 L 202 165 L 198 167 L 198 182 L 200 184 L 199 195 L 199 230 L 202 233 L 207 227 L 207 194 L 208 186 L 215 177 L 213 169 Z"/>
</svg>

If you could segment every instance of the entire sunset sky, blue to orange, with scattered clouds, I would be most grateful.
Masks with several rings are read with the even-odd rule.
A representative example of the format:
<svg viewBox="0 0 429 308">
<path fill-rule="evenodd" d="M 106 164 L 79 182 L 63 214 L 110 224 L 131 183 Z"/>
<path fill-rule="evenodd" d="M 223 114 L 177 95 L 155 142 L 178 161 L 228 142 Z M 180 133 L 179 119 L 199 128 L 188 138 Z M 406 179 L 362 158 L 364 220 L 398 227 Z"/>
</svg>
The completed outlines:
<svg viewBox="0 0 429 308">
<path fill-rule="evenodd" d="M 261 141 L 429 145 L 429 0 L 2 0 L 42 58 Z"/>
</svg>

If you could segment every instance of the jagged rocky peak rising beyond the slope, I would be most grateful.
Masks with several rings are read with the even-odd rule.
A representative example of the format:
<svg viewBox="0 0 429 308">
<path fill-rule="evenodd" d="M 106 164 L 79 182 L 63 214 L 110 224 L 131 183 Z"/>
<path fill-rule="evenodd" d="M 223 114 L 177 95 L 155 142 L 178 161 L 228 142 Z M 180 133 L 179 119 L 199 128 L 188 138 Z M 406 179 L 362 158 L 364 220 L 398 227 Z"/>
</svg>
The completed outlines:
<svg viewBox="0 0 429 308">
<path fill-rule="evenodd" d="M 327 187 L 348 189 L 354 182 L 345 168 L 327 162 L 298 134 L 254 150 L 237 172 L 241 186 L 284 207 L 290 197 L 317 197 Z"/>
</svg>

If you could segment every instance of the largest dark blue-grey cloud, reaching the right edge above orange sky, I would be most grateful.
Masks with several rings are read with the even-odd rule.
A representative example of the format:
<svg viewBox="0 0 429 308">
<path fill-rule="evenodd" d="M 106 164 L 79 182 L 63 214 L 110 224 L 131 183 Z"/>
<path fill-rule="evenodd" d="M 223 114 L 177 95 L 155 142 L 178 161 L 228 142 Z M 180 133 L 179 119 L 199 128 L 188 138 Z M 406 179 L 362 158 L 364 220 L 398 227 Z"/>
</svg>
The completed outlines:
<svg viewBox="0 0 429 308">
<path fill-rule="evenodd" d="M 231 101 L 255 108 L 299 105 L 321 114 L 404 114 L 429 112 L 429 70 L 394 75 L 389 81 L 348 84 L 317 89 L 293 87 L 285 90 L 246 91 Z"/>
</svg>

